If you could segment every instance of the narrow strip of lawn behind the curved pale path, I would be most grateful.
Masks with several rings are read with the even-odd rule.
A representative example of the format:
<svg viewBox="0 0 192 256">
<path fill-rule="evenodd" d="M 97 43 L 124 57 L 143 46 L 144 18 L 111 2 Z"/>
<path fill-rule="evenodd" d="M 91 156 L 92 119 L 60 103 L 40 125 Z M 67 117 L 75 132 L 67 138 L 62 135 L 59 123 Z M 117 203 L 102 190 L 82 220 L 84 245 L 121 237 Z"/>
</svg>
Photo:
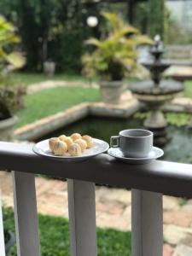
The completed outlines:
<svg viewBox="0 0 192 256">
<path fill-rule="evenodd" d="M 31 84 L 37 84 L 40 82 L 44 82 L 47 80 L 64 80 L 69 82 L 79 81 L 79 82 L 90 82 L 89 79 L 86 79 L 80 75 L 74 75 L 74 74 L 55 74 L 53 77 L 46 77 L 43 73 L 13 73 L 13 79 L 18 81 L 18 83 L 31 85 Z M 96 79 L 93 79 L 94 81 Z"/>
</svg>

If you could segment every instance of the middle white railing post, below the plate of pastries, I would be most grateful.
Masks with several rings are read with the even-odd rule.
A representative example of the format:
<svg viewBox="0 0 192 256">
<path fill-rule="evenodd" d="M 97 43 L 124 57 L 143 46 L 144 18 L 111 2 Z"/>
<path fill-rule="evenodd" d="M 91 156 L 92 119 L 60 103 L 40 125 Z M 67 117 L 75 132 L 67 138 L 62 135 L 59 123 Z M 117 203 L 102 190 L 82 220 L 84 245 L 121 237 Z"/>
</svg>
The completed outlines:
<svg viewBox="0 0 192 256">
<path fill-rule="evenodd" d="M 68 179 L 72 256 L 96 256 L 95 184 Z"/>
</svg>

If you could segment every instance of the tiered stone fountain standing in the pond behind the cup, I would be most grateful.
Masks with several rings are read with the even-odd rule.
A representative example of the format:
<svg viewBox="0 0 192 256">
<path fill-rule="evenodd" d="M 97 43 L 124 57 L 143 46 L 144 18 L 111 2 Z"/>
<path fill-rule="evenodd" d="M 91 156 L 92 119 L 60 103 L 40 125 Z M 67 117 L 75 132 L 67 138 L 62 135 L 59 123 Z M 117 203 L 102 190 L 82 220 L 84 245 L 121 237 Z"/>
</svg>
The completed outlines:
<svg viewBox="0 0 192 256">
<path fill-rule="evenodd" d="M 154 38 L 154 46 L 150 49 L 151 60 L 142 62 L 150 72 L 151 79 L 131 85 L 133 95 L 151 111 L 144 121 L 144 126 L 154 131 L 156 145 L 165 144 L 167 141 L 167 123 L 161 111 L 162 107 L 183 91 L 182 83 L 162 79 L 162 73 L 171 66 L 171 63 L 162 60 L 163 53 L 163 44 L 157 35 Z"/>
</svg>

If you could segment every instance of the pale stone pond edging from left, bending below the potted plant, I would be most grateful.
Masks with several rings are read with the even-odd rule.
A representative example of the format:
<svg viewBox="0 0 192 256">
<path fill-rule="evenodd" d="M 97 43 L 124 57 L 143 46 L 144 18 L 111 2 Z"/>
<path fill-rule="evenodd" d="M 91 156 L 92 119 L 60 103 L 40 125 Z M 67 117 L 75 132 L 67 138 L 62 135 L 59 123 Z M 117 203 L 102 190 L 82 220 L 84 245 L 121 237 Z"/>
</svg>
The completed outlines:
<svg viewBox="0 0 192 256">
<path fill-rule="evenodd" d="M 89 115 L 125 118 L 139 109 L 139 103 L 127 91 L 122 96 L 122 104 L 110 105 L 102 102 L 84 102 L 63 112 L 55 113 L 30 125 L 15 130 L 15 138 L 32 141 L 70 125 Z"/>
</svg>

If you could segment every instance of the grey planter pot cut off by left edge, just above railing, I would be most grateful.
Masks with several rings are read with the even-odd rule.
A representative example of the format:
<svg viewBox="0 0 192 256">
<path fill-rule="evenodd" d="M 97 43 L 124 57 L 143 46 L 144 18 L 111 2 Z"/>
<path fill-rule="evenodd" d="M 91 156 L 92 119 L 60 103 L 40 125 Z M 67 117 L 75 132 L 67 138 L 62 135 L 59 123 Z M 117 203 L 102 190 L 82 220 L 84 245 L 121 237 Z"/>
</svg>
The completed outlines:
<svg viewBox="0 0 192 256">
<path fill-rule="evenodd" d="M 14 126 L 18 118 L 13 116 L 0 121 L 0 141 L 10 141 L 13 138 Z"/>
</svg>

